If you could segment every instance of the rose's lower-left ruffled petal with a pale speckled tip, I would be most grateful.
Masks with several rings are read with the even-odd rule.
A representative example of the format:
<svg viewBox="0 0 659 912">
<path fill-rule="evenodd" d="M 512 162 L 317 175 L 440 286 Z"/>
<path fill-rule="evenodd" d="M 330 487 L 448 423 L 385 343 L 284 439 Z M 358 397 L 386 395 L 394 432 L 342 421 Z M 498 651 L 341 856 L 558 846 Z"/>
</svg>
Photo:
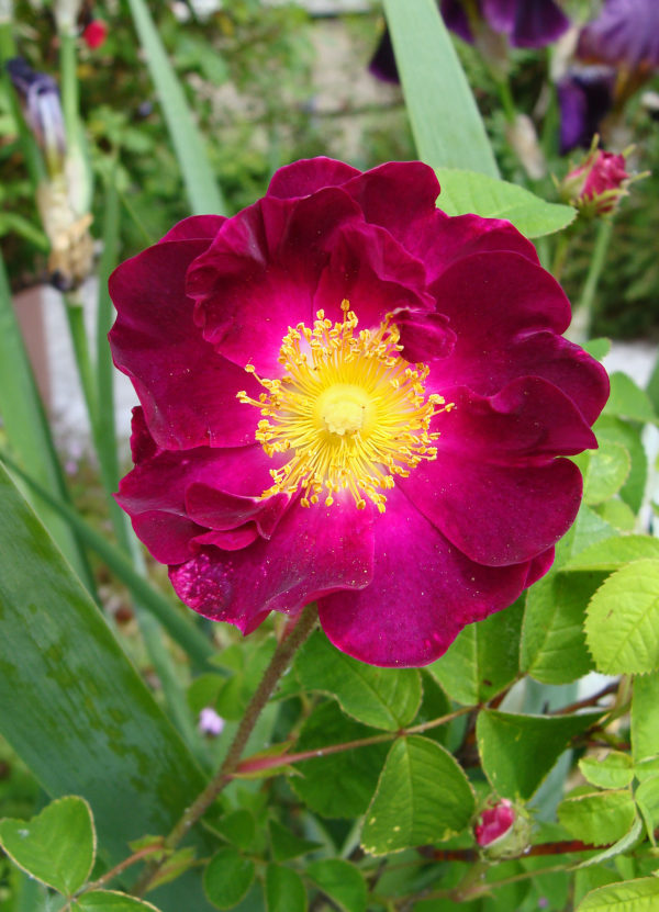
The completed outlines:
<svg viewBox="0 0 659 912">
<path fill-rule="evenodd" d="M 270 541 L 228 553 L 202 549 L 192 560 L 170 567 L 169 576 L 186 605 L 245 633 L 269 611 L 297 613 L 327 593 L 368 586 L 372 519 L 373 510 L 356 510 L 351 497 L 337 498 L 328 508 L 304 509 L 298 504 Z"/>
</svg>

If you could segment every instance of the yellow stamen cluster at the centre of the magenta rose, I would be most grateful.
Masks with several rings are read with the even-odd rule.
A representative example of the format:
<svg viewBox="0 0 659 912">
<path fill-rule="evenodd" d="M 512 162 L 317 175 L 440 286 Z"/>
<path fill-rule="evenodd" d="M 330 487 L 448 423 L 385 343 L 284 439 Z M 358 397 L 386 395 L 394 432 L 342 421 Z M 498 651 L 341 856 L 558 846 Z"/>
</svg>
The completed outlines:
<svg viewBox="0 0 659 912">
<path fill-rule="evenodd" d="M 313 329 L 303 323 L 289 328 L 279 352 L 284 373 L 279 380 L 254 374 L 266 392 L 258 399 L 246 392 L 238 399 L 264 416 L 256 439 L 270 457 L 291 453 L 270 470 L 273 484 L 263 497 L 302 491 L 301 504 L 331 506 L 348 489 L 358 509 L 366 497 L 384 513 L 383 492 L 394 476 L 406 477 L 422 460 L 437 457 L 431 434 L 434 415 L 448 412 L 437 394 L 426 397 L 429 369 L 410 364 L 400 352 L 400 333 L 388 314 L 379 329 L 361 329 L 347 301 L 343 322 L 333 324 L 323 311 Z"/>
</svg>

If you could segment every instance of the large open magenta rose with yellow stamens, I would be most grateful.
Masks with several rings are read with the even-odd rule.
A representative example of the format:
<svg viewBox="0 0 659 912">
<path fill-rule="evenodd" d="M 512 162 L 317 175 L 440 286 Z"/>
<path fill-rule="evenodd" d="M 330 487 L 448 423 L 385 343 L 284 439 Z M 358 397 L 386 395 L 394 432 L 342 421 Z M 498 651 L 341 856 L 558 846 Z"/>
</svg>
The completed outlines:
<svg viewBox="0 0 659 912">
<path fill-rule="evenodd" d="M 603 369 L 509 223 L 418 162 L 280 169 L 116 269 L 142 407 L 119 503 L 180 598 L 244 633 L 317 600 L 338 649 L 442 655 L 551 564 Z"/>
</svg>

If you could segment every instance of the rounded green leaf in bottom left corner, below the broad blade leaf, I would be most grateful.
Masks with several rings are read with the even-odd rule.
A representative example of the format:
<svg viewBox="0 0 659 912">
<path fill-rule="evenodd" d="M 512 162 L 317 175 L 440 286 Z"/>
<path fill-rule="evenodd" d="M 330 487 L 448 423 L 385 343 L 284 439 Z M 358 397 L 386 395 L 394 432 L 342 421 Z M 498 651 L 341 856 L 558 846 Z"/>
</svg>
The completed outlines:
<svg viewBox="0 0 659 912">
<path fill-rule="evenodd" d="M 0 821 L 0 845 L 31 877 L 70 897 L 87 881 L 96 856 L 93 818 L 76 796 L 24 820 Z"/>
</svg>

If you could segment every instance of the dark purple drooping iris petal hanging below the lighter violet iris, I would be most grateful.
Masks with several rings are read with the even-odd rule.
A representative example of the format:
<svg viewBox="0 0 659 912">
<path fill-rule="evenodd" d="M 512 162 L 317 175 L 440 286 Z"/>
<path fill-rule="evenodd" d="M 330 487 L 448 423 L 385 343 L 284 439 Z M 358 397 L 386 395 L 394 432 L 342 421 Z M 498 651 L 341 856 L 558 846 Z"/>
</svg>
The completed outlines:
<svg viewBox="0 0 659 912">
<path fill-rule="evenodd" d="M 560 154 L 589 148 L 600 123 L 611 111 L 615 74 L 605 67 L 571 69 L 558 82 Z"/>
</svg>

